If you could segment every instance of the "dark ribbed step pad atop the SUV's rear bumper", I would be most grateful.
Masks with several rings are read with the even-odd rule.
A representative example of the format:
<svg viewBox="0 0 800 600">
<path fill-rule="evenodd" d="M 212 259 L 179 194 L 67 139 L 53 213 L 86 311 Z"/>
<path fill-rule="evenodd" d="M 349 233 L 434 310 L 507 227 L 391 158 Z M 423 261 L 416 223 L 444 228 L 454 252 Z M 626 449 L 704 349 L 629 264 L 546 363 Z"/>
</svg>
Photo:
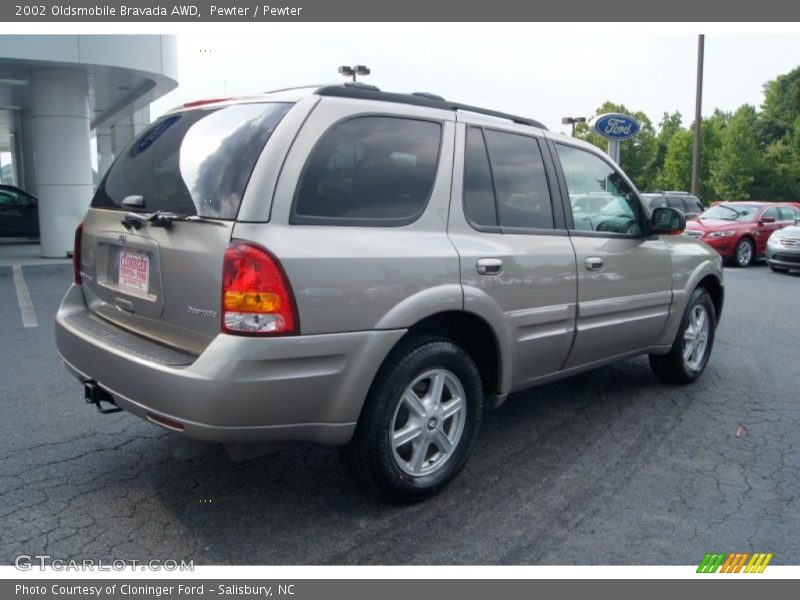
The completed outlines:
<svg viewBox="0 0 800 600">
<path fill-rule="evenodd" d="M 170 367 L 185 367 L 197 357 L 176 348 L 159 344 L 125 329 L 120 329 L 108 321 L 89 312 L 79 312 L 66 317 L 65 321 L 90 337 L 124 350 L 125 352 Z"/>
</svg>

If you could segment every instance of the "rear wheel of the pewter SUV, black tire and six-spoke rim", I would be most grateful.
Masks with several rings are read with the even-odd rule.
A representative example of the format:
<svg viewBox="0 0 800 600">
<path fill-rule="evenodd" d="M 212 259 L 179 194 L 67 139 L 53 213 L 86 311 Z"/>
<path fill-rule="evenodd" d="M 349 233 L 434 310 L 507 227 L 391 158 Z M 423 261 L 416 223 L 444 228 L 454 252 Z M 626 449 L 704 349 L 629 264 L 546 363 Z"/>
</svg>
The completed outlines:
<svg viewBox="0 0 800 600">
<path fill-rule="evenodd" d="M 451 341 L 401 344 L 375 377 L 353 439 L 339 449 L 345 467 L 392 502 L 433 496 L 472 453 L 483 420 L 481 389 L 475 362 Z"/>
</svg>

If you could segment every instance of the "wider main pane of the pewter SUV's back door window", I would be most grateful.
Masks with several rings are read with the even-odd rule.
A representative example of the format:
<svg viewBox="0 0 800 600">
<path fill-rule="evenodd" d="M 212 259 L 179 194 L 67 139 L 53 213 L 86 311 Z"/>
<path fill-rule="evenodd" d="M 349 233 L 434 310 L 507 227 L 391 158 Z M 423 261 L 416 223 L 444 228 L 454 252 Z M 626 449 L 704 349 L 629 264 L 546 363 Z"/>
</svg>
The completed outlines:
<svg viewBox="0 0 800 600">
<path fill-rule="evenodd" d="M 501 227 L 553 229 L 553 206 L 539 142 L 486 130 Z"/>
</svg>

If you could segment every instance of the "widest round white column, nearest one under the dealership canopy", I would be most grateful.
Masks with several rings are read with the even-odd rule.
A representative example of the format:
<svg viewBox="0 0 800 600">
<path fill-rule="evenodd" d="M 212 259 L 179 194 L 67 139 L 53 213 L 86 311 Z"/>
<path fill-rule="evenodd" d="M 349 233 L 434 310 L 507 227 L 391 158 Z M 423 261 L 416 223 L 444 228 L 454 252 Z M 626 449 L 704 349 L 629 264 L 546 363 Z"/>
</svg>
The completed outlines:
<svg viewBox="0 0 800 600">
<path fill-rule="evenodd" d="M 92 199 L 89 82 L 82 70 L 31 73 L 42 255 L 66 256 Z"/>
</svg>

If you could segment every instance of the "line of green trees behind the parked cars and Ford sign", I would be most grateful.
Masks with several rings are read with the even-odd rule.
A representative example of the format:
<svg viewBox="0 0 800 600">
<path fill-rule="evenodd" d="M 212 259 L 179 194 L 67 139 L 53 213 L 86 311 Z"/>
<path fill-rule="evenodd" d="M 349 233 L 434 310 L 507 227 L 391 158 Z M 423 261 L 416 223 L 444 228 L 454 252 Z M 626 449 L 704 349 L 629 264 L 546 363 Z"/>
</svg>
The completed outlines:
<svg viewBox="0 0 800 600">
<path fill-rule="evenodd" d="M 690 189 L 693 123 L 683 127 L 680 113 L 665 112 L 656 130 L 641 111 L 613 102 L 595 114 L 607 112 L 641 123 L 639 135 L 620 148 L 621 166 L 640 190 Z M 760 111 L 749 105 L 733 114 L 717 109 L 702 120 L 700 131 L 701 200 L 800 200 L 800 67 L 764 85 Z M 607 148 L 585 124 L 575 135 Z"/>
</svg>

